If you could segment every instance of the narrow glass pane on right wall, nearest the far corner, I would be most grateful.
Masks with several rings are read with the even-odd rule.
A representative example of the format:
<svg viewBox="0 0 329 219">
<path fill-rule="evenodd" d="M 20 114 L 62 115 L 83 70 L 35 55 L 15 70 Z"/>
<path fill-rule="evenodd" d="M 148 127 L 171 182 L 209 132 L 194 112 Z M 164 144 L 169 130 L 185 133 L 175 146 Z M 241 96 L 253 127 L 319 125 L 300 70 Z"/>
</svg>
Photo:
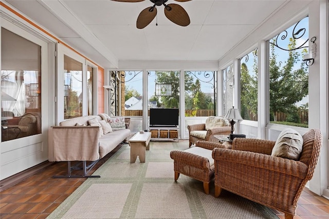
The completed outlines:
<svg viewBox="0 0 329 219">
<path fill-rule="evenodd" d="M 225 115 L 228 109 L 233 107 L 233 95 L 234 95 L 234 73 L 233 64 L 228 66 L 222 71 L 223 73 L 223 115 Z"/>
</svg>

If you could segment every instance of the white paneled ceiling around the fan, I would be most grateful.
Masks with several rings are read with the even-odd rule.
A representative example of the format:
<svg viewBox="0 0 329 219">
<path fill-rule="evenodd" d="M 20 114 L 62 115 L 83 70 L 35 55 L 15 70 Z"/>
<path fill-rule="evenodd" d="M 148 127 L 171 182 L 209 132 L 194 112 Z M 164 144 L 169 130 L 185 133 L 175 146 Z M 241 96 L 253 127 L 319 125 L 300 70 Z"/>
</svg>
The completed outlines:
<svg viewBox="0 0 329 219">
<path fill-rule="evenodd" d="M 144 29 L 136 28 L 136 19 L 153 5 L 149 0 L 6 2 L 103 68 L 118 68 L 119 61 L 218 61 L 290 1 L 169 0 L 187 11 L 191 24 L 172 23 L 159 6 Z"/>
</svg>

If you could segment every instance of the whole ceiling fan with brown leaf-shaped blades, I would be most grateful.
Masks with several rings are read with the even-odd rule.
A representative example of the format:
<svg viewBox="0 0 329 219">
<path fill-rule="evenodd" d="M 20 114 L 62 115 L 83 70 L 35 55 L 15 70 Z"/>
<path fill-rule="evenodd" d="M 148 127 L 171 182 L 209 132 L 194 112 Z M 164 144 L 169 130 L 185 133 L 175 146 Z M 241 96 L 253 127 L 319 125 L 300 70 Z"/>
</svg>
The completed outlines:
<svg viewBox="0 0 329 219">
<path fill-rule="evenodd" d="M 115 2 L 142 2 L 145 0 L 112 0 Z M 177 4 L 166 5 L 168 0 L 150 0 L 154 5 L 145 8 L 140 12 L 137 18 L 136 26 L 138 29 L 143 29 L 148 26 L 154 19 L 157 13 L 156 6 L 165 6 L 165 15 L 173 23 L 186 27 L 190 24 L 190 17 L 186 10 Z M 175 0 L 176 2 L 188 2 L 191 0 Z"/>
</svg>

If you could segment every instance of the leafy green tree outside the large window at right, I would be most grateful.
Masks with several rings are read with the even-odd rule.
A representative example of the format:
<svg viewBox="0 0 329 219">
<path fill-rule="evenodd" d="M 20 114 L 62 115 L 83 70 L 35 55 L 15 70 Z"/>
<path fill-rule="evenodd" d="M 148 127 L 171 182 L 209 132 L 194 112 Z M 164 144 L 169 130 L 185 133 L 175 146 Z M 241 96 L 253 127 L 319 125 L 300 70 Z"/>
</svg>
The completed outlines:
<svg viewBox="0 0 329 219">
<path fill-rule="evenodd" d="M 275 48 L 274 45 L 271 44 L 269 98 L 270 113 L 274 121 L 277 120 L 277 112 L 291 114 L 291 109 L 296 109 L 295 103 L 301 101 L 301 99 L 308 94 L 308 73 L 305 63 L 301 62 L 299 69 L 293 69 L 294 65 L 300 61 L 300 56 L 307 51 L 304 49 L 299 53 L 295 48 L 296 40 L 290 38 L 288 44 L 289 57 L 287 61 L 284 63 L 277 63 Z M 283 64 L 284 66 L 281 68 Z M 288 115 L 288 117 L 293 118 L 296 116 Z"/>
</svg>

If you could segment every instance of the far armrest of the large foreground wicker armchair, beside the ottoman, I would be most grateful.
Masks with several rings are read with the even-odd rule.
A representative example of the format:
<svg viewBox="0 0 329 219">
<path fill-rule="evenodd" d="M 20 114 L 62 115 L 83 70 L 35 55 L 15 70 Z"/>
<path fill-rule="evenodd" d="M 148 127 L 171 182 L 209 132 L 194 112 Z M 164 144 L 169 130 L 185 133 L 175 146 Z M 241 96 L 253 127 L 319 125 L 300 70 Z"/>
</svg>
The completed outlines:
<svg viewBox="0 0 329 219">
<path fill-rule="evenodd" d="M 234 138 L 232 149 L 270 155 L 275 144 L 275 141 L 256 138 Z"/>
</svg>

